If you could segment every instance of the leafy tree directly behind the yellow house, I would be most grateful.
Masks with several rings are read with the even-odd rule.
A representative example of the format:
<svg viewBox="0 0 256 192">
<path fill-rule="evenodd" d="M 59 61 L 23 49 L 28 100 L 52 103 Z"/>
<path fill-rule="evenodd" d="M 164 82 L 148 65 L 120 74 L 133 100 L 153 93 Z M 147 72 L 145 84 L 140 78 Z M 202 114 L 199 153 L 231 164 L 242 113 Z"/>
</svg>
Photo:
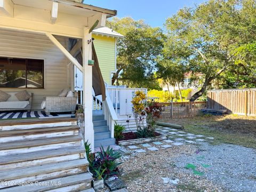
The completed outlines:
<svg viewBox="0 0 256 192">
<path fill-rule="evenodd" d="M 113 18 L 107 26 L 125 36 L 117 41 L 117 71 L 112 83 L 159 89 L 154 71 L 163 47 L 162 30 L 129 17 Z"/>
</svg>

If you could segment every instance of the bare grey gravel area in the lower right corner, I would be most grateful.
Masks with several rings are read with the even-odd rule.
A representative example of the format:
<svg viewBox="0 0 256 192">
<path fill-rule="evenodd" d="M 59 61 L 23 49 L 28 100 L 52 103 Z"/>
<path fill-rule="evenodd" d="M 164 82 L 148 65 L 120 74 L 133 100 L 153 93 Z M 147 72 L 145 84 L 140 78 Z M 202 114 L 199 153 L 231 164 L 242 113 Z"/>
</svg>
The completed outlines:
<svg viewBox="0 0 256 192">
<path fill-rule="evenodd" d="M 198 145 L 197 148 L 194 154 L 175 158 L 175 165 L 182 169 L 187 164 L 194 164 L 205 173 L 204 178 L 230 191 L 256 191 L 255 149 L 228 144 L 212 146 L 208 143 Z"/>
</svg>

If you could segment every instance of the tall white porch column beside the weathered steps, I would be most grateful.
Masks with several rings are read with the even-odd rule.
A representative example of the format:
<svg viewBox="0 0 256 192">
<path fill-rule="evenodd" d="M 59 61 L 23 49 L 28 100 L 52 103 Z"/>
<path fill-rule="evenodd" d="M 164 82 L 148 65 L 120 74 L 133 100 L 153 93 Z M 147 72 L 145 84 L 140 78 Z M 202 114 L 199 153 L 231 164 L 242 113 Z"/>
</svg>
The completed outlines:
<svg viewBox="0 0 256 192">
<path fill-rule="evenodd" d="M 83 101 L 84 101 L 84 138 L 91 143 L 92 152 L 94 151 L 94 130 L 92 123 L 92 66 L 88 66 L 88 60 L 92 59 L 92 38 L 89 29 L 83 29 Z"/>
</svg>

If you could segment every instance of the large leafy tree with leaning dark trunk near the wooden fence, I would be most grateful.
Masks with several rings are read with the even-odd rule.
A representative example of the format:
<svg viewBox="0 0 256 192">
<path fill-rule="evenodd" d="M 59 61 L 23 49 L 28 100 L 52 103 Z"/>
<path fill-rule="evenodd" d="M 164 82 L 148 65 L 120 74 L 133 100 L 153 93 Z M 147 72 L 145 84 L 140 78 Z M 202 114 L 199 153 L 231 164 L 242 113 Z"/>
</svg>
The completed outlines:
<svg viewBox="0 0 256 192">
<path fill-rule="evenodd" d="M 239 47 L 255 41 L 255 7 L 254 0 L 210 0 L 195 9 L 185 7 L 166 20 L 164 58 L 185 66 L 194 81 L 198 74 L 203 77 L 201 89 L 190 101 L 203 95 L 214 79 L 241 65 Z"/>
</svg>

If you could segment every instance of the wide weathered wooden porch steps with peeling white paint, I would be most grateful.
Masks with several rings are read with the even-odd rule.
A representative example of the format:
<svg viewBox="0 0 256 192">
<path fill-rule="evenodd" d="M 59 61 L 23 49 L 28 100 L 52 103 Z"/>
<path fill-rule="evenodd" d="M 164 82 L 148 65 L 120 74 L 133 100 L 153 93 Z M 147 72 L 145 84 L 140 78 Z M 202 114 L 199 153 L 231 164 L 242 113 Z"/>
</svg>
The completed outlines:
<svg viewBox="0 0 256 192">
<path fill-rule="evenodd" d="M 76 119 L 0 122 L 0 191 L 92 192 L 87 166 Z"/>
</svg>

